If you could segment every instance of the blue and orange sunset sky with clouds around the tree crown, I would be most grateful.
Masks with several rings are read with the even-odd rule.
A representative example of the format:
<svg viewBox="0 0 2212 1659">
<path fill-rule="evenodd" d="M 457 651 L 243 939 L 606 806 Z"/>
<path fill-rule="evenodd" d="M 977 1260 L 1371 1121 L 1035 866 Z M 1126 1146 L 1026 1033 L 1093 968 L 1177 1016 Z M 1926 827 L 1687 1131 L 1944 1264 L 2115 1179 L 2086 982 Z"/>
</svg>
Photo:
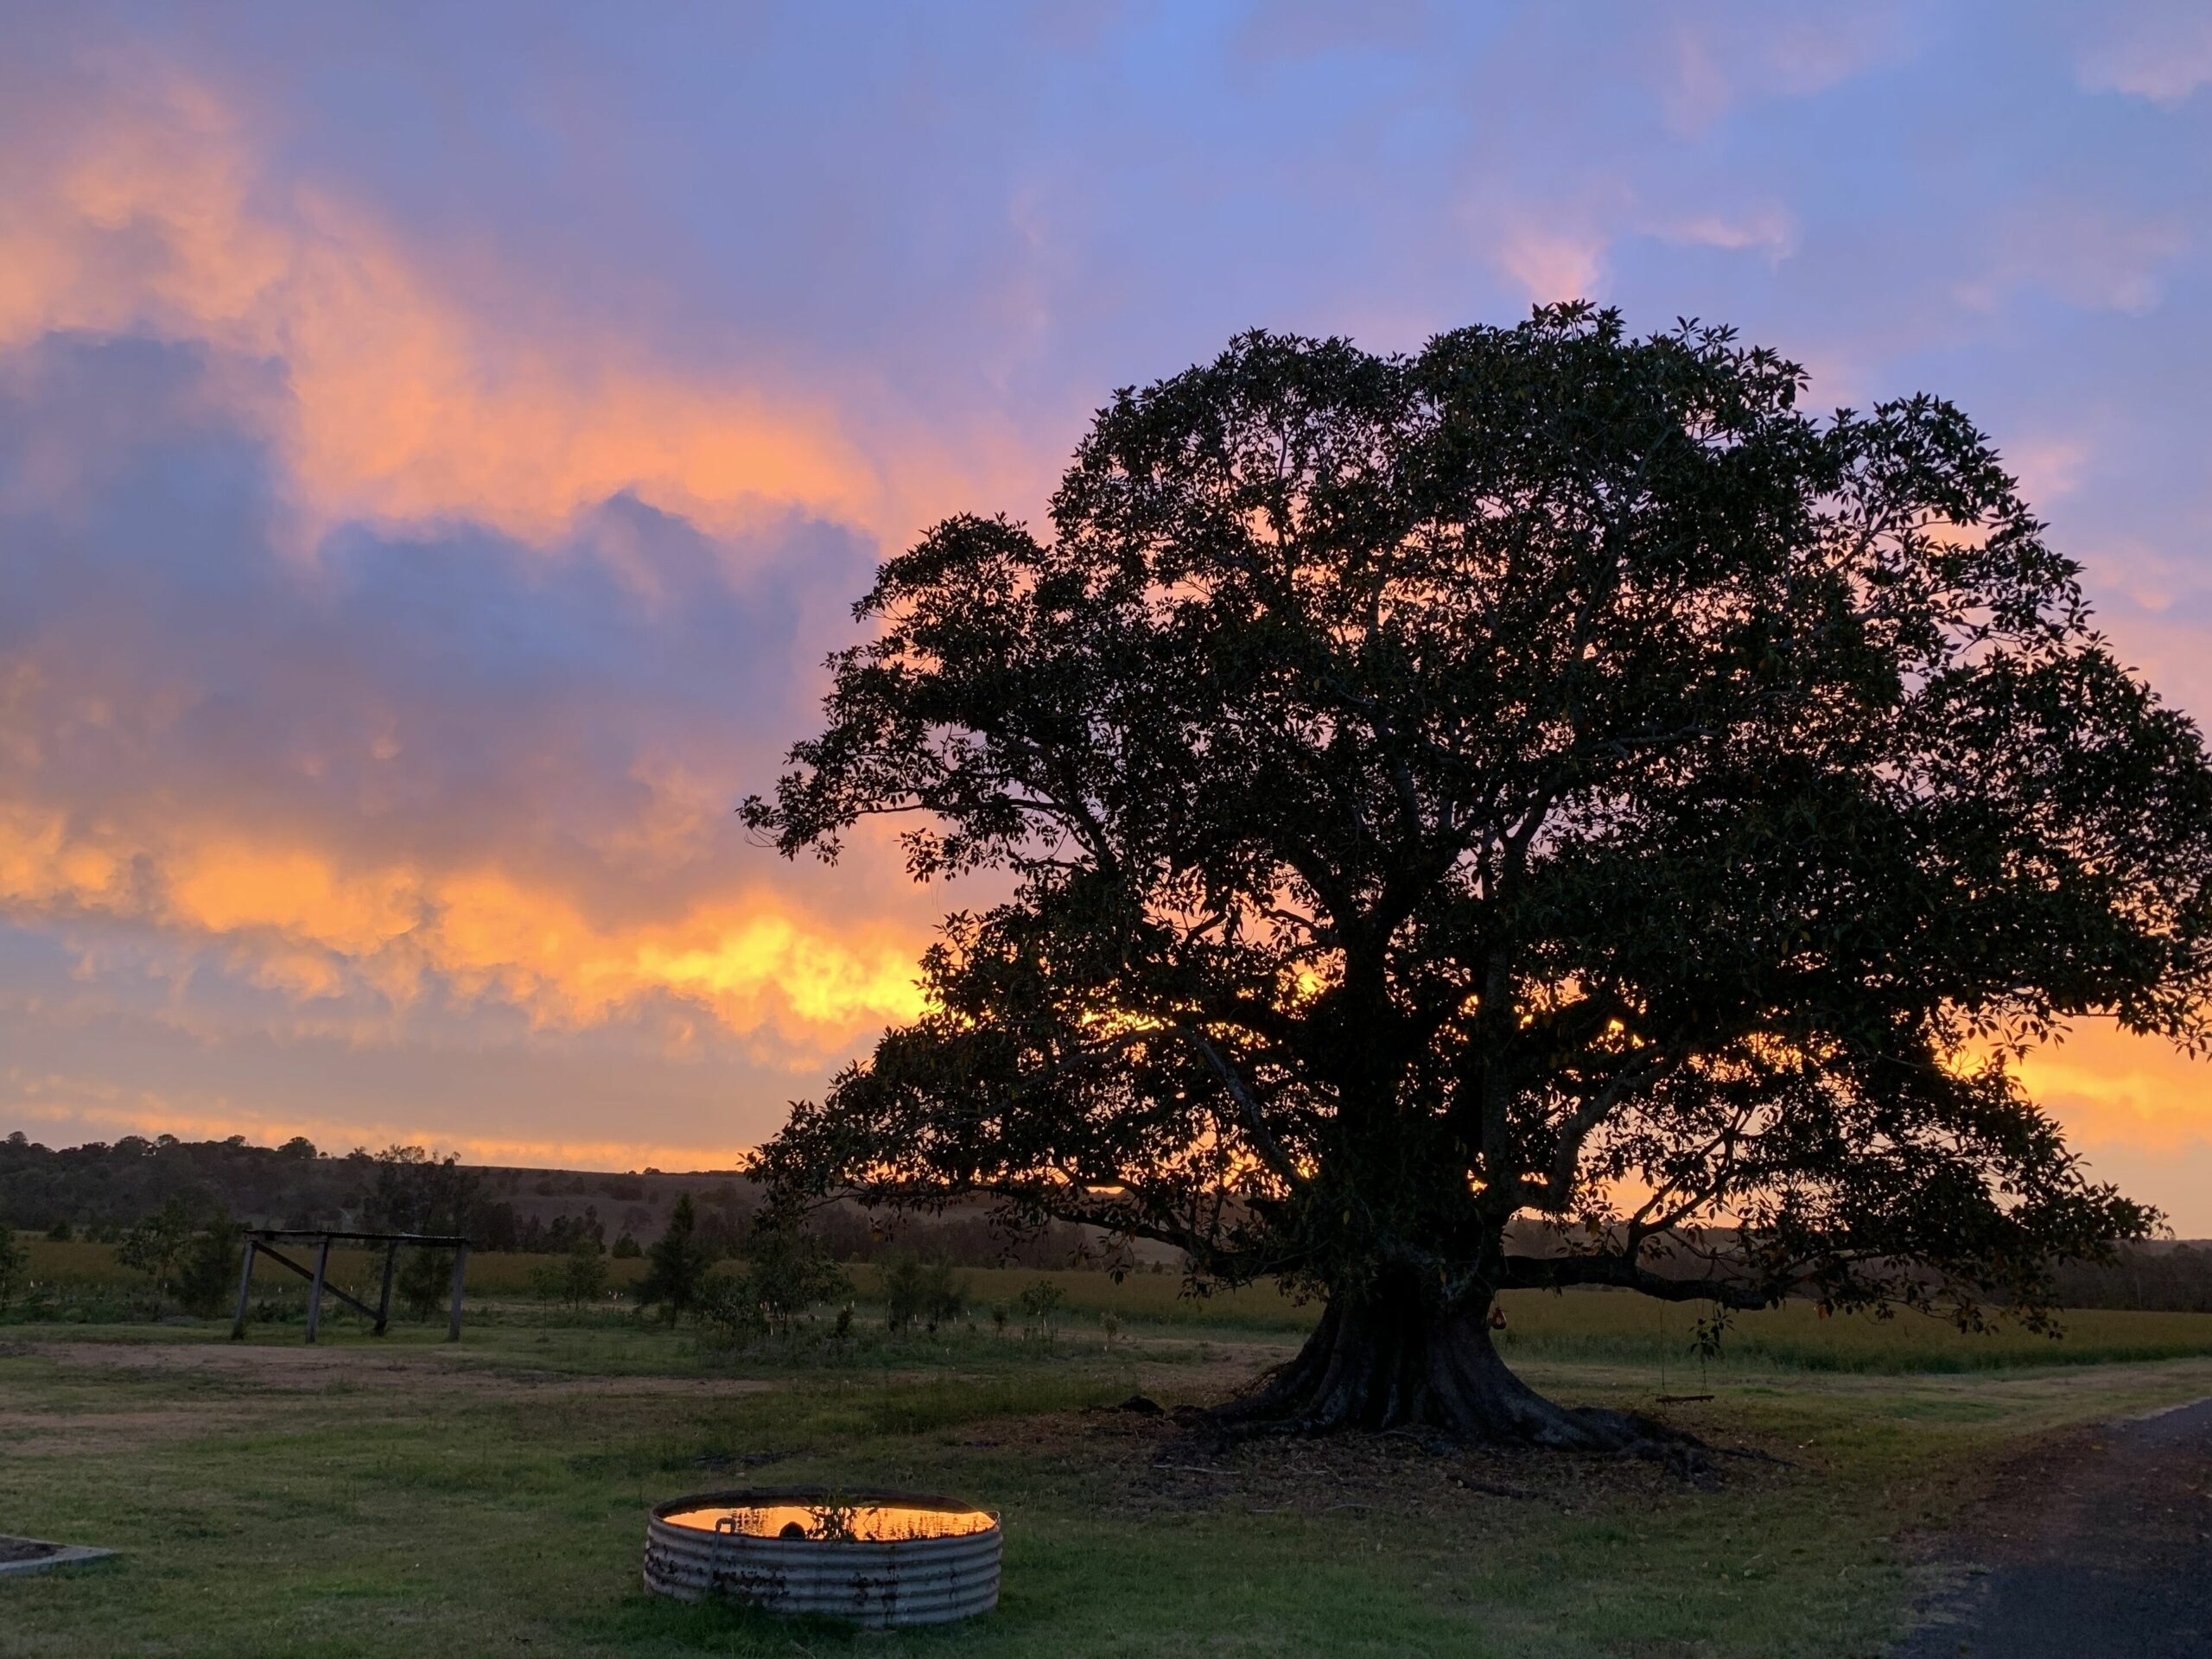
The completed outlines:
<svg viewBox="0 0 2212 1659">
<path fill-rule="evenodd" d="M 2212 7 L 22 7 L 0 1133 L 728 1164 L 949 900 L 734 803 L 878 557 L 1237 330 L 1741 325 L 2212 714 Z M 2212 1234 L 2212 1064 L 2028 1066 Z"/>
</svg>

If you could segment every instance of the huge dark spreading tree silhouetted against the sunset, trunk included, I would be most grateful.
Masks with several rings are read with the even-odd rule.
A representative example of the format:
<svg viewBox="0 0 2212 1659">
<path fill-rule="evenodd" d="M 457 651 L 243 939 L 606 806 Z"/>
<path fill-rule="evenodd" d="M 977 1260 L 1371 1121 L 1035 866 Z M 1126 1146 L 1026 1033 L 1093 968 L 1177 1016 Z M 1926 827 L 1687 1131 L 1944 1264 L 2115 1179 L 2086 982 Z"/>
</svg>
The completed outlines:
<svg viewBox="0 0 2212 1659">
<path fill-rule="evenodd" d="M 745 818 L 1009 896 L 768 1175 L 1323 1294 L 1230 1418 L 1595 1447 L 1652 1429 L 1526 1389 L 1500 1290 L 2033 1314 L 2143 1232 L 2008 1062 L 2203 1048 L 2199 732 L 1955 407 L 1803 389 L 1586 305 L 1248 334 L 1099 411 L 1048 540 L 885 564 Z"/>
</svg>

